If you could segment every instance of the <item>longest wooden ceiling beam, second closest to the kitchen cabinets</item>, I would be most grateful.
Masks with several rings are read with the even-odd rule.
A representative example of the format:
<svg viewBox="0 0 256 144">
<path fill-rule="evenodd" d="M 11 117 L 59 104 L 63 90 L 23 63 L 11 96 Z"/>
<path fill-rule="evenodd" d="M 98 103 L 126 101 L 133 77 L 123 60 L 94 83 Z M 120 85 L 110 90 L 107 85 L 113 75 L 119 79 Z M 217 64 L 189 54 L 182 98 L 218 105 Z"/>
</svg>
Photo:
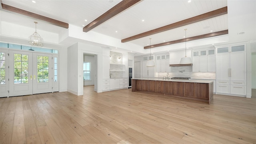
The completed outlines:
<svg viewBox="0 0 256 144">
<path fill-rule="evenodd" d="M 157 33 L 160 33 L 160 32 L 164 32 L 164 31 L 167 31 L 167 30 L 172 30 L 174 28 L 179 28 L 179 27 L 182 27 L 182 26 L 186 26 L 188 24 L 193 24 L 193 23 L 196 23 L 196 22 L 200 22 L 202 20 L 207 20 L 209 18 L 214 18 L 216 16 L 221 16 L 221 15 L 224 15 L 224 14 L 228 14 L 228 7 L 227 6 L 224 7 L 224 8 L 220 8 L 220 9 L 217 9 L 217 10 L 213 10 L 211 12 L 207 12 L 207 13 L 198 15 L 198 16 L 194 16 L 192 18 L 188 18 L 186 20 L 182 20 L 182 21 L 179 21 L 179 22 L 176 22 L 176 23 L 173 23 L 173 24 L 169 24 L 167 26 L 156 28 L 156 29 L 150 30 L 148 32 L 144 32 L 144 33 L 141 33 L 141 34 L 137 34 L 135 36 L 131 36 L 131 37 L 122 39 L 121 42 L 125 43 L 127 41 L 132 41 L 134 39 L 139 39 L 139 38 L 142 38 L 142 37 L 150 36 L 150 35 L 157 34 Z"/>
</svg>

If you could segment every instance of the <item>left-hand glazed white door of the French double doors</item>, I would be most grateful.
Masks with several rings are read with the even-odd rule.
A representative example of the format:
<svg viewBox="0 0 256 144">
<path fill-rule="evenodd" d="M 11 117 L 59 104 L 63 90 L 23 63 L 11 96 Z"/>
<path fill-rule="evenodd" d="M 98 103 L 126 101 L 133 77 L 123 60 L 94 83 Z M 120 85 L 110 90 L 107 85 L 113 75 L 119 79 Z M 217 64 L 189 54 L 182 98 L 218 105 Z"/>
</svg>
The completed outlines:
<svg viewBox="0 0 256 144">
<path fill-rule="evenodd" d="M 9 96 L 32 95 L 32 57 L 25 51 L 9 51 Z"/>
</svg>

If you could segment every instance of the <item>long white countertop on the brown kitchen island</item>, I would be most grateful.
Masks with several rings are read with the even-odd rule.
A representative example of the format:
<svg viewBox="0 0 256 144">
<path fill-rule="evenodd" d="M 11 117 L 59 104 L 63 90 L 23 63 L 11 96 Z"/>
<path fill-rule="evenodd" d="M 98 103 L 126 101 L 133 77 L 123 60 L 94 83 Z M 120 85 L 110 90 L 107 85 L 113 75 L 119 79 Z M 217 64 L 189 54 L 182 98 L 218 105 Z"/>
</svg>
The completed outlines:
<svg viewBox="0 0 256 144">
<path fill-rule="evenodd" d="M 213 80 L 203 80 L 203 79 L 163 79 L 163 78 L 153 78 L 153 77 L 143 77 L 136 78 L 137 80 L 150 80 L 150 81 L 176 81 L 176 82 L 187 82 L 187 83 L 213 83 Z"/>
</svg>

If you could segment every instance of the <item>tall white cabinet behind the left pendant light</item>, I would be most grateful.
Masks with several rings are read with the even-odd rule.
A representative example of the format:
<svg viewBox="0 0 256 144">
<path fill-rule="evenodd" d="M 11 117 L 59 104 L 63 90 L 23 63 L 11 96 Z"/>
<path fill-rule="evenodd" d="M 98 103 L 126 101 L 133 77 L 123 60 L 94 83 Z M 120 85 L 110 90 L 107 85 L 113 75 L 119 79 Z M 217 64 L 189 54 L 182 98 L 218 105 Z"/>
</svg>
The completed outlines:
<svg viewBox="0 0 256 144">
<path fill-rule="evenodd" d="M 143 77 L 154 77 L 155 76 L 155 67 L 147 67 L 147 61 L 151 59 L 154 60 L 154 56 L 143 57 Z"/>
</svg>

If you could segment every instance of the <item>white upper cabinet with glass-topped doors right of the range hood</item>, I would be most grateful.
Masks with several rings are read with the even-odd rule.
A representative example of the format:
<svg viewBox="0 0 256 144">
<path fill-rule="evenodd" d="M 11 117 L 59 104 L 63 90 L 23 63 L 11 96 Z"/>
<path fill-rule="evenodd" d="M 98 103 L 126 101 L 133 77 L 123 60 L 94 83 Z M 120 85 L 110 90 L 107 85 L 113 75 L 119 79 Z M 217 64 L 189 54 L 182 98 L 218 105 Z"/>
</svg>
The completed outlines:
<svg viewBox="0 0 256 144">
<path fill-rule="evenodd" d="M 215 50 L 202 49 L 193 51 L 193 72 L 215 72 Z"/>
</svg>

